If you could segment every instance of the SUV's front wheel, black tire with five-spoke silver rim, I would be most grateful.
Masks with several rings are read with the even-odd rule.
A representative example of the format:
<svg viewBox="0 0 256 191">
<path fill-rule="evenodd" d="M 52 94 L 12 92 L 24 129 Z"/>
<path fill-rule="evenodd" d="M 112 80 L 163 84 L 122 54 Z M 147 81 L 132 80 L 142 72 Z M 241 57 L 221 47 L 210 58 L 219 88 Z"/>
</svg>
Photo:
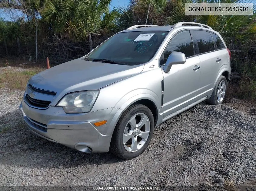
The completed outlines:
<svg viewBox="0 0 256 191">
<path fill-rule="evenodd" d="M 131 105 L 117 122 L 110 143 L 110 151 L 122 159 L 138 157 L 148 147 L 154 127 L 154 116 L 148 107 L 142 104 Z M 126 140 L 128 141 L 125 142 Z"/>
</svg>

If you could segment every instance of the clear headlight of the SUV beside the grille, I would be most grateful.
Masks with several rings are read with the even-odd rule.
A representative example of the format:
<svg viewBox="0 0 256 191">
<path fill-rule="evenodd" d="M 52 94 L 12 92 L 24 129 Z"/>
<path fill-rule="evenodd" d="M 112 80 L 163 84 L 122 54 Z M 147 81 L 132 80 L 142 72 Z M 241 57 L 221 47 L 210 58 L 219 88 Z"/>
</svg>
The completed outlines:
<svg viewBox="0 0 256 191">
<path fill-rule="evenodd" d="M 65 95 L 57 104 L 65 113 L 90 112 L 98 97 L 99 91 L 81 91 Z"/>
</svg>

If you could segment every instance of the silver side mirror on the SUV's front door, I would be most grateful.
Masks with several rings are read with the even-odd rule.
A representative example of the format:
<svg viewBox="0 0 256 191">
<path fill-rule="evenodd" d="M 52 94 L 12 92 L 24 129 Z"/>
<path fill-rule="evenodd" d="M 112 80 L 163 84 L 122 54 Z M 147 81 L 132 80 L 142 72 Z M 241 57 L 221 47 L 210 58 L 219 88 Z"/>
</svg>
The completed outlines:
<svg viewBox="0 0 256 191">
<path fill-rule="evenodd" d="M 172 52 L 164 66 L 165 73 L 170 72 L 171 65 L 173 64 L 184 64 L 186 62 L 186 56 L 184 53 L 181 52 Z"/>
</svg>

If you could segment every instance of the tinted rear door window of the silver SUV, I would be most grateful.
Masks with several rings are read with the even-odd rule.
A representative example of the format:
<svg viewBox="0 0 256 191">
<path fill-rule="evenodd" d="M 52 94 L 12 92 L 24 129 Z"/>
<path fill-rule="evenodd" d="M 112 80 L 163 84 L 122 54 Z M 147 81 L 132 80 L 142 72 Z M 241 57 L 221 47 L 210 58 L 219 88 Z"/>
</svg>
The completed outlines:
<svg viewBox="0 0 256 191">
<path fill-rule="evenodd" d="M 198 44 L 199 54 L 215 50 L 213 38 L 210 32 L 204 30 L 193 30 L 193 36 Z"/>
</svg>

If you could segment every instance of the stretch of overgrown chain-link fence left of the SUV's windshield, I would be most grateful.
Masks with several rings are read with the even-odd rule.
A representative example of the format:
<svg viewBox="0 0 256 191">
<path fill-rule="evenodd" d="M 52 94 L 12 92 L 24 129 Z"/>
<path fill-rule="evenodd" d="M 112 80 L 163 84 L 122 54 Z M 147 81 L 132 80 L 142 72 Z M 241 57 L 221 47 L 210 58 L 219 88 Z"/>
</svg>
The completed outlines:
<svg viewBox="0 0 256 191">
<path fill-rule="evenodd" d="M 107 35 L 91 35 L 92 48 L 95 48 L 111 34 Z M 77 59 L 90 52 L 89 40 L 83 42 L 72 42 L 71 40 L 60 40 L 57 36 L 48 42 L 24 43 L 21 42 L 8 44 L 5 46 L 4 42 L 0 43 L 0 56 L 8 58 L 23 59 L 26 62 L 43 62 L 46 57 L 49 58 L 52 65 L 58 65 L 73 59 Z"/>
</svg>

